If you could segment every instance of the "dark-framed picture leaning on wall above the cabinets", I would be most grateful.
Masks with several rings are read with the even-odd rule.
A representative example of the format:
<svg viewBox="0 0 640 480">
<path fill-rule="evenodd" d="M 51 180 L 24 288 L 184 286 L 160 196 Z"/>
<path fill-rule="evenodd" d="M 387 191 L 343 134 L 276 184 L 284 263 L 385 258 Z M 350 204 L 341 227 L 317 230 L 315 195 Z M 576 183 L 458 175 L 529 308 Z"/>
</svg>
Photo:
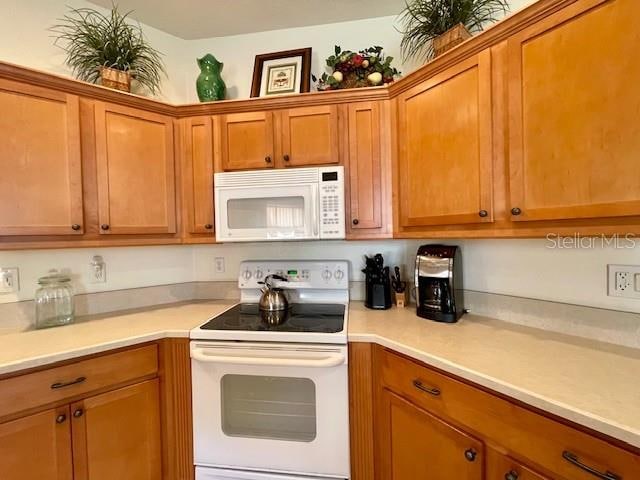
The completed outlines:
<svg viewBox="0 0 640 480">
<path fill-rule="evenodd" d="M 256 55 L 252 97 L 308 92 L 311 83 L 311 48 Z"/>
</svg>

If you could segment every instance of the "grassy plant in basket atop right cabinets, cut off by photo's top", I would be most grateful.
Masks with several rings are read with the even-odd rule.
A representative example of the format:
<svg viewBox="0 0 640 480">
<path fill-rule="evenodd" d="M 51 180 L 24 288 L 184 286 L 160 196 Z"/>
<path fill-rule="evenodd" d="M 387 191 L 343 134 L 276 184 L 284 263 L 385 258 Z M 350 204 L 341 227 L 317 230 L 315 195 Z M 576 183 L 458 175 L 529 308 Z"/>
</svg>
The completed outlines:
<svg viewBox="0 0 640 480">
<path fill-rule="evenodd" d="M 508 0 L 413 0 L 400 18 L 400 49 L 405 60 L 430 60 L 508 11 Z"/>
</svg>

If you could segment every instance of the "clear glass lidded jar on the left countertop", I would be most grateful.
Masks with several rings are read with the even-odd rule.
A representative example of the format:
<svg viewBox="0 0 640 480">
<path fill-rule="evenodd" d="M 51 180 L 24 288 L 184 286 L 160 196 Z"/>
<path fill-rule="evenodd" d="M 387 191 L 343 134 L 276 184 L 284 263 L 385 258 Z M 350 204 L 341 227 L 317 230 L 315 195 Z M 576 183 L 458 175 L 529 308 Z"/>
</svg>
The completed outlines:
<svg viewBox="0 0 640 480">
<path fill-rule="evenodd" d="M 36 328 L 57 327 L 73 322 L 74 300 L 71 278 L 52 270 L 38 279 Z"/>
</svg>

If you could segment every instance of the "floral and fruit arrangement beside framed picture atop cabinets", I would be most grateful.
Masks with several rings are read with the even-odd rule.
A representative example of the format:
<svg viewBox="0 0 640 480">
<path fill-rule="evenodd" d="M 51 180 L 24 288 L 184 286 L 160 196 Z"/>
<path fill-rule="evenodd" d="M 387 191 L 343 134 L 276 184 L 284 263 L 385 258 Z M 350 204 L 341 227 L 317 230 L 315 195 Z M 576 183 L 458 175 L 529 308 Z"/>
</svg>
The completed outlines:
<svg viewBox="0 0 640 480">
<path fill-rule="evenodd" d="M 320 78 L 312 75 L 318 83 L 318 90 L 339 90 L 342 88 L 375 87 L 391 83 L 400 72 L 391 66 L 393 57 L 386 57 L 382 47 L 370 47 L 359 52 L 342 51 L 336 45 L 335 53 L 327 58 L 331 73 L 323 73 Z"/>
</svg>

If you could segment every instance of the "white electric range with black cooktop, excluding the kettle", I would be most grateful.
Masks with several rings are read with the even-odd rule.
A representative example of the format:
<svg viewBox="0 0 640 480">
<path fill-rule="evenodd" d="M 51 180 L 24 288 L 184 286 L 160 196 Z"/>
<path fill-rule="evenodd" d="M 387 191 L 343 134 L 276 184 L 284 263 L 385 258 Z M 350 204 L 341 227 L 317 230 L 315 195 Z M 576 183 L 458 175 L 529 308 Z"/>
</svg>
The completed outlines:
<svg viewBox="0 0 640 480">
<path fill-rule="evenodd" d="M 290 311 L 257 308 L 270 273 Z M 348 479 L 348 264 L 243 262 L 241 303 L 191 331 L 196 480 Z"/>
</svg>

